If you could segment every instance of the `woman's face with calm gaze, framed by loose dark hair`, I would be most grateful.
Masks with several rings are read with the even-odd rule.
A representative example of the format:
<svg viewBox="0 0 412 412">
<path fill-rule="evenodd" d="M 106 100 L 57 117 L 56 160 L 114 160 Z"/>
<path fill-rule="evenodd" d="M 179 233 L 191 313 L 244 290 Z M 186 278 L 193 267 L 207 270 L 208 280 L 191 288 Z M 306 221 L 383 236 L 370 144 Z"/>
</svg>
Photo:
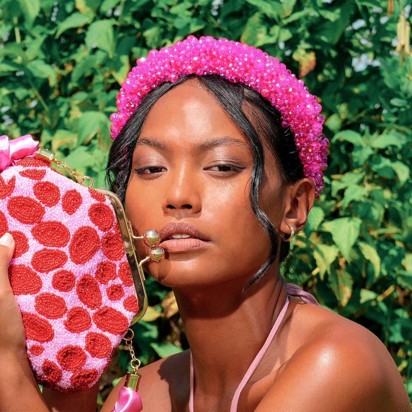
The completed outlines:
<svg viewBox="0 0 412 412">
<path fill-rule="evenodd" d="M 266 150 L 263 209 L 275 227 L 281 184 Z M 135 232 L 156 229 L 166 258 L 150 274 L 172 287 L 239 280 L 258 271 L 269 237 L 249 201 L 253 157 L 248 139 L 196 80 L 159 98 L 133 152 L 126 213 Z M 139 244 L 139 255 L 147 247 Z"/>
</svg>

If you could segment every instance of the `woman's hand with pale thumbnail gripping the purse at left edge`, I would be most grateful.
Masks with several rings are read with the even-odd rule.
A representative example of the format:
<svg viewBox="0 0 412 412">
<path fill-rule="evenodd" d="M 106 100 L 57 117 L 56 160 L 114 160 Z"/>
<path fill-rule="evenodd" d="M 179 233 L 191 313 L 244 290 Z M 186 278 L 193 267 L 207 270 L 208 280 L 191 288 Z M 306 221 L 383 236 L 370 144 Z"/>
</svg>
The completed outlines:
<svg viewBox="0 0 412 412">
<path fill-rule="evenodd" d="M 0 238 L 0 352 L 26 357 L 26 333 L 21 312 L 10 286 L 8 268 L 14 253 L 14 239 L 6 233 Z"/>
</svg>

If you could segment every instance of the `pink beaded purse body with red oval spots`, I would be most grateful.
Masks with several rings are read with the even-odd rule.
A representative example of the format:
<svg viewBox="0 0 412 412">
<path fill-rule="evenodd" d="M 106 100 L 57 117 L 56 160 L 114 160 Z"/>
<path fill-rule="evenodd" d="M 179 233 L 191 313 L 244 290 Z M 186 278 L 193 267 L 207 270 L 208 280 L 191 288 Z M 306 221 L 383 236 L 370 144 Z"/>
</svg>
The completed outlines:
<svg viewBox="0 0 412 412">
<path fill-rule="evenodd" d="M 2 136 L 5 137 L 5 136 Z M 25 158 L 0 174 L 0 236 L 40 384 L 96 383 L 138 311 L 115 213 L 103 194 Z"/>
</svg>

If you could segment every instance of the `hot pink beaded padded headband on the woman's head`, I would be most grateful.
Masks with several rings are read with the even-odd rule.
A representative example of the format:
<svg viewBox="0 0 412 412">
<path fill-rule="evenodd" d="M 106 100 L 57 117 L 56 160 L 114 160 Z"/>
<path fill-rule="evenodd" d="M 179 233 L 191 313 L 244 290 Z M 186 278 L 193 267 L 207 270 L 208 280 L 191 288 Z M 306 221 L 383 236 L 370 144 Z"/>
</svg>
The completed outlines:
<svg viewBox="0 0 412 412">
<path fill-rule="evenodd" d="M 322 134 L 324 117 L 316 96 L 303 80 L 260 49 L 227 39 L 187 37 L 173 46 L 152 50 L 137 61 L 117 94 L 117 113 L 110 116 L 111 137 L 136 110 L 143 97 L 159 84 L 175 82 L 185 75 L 220 75 L 242 83 L 265 97 L 279 111 L 282 126 L 290 127 L 303 165 L 304 176 L 315 183 L 315 196 L 324 188 L 328 139 Z"/>
</svg>

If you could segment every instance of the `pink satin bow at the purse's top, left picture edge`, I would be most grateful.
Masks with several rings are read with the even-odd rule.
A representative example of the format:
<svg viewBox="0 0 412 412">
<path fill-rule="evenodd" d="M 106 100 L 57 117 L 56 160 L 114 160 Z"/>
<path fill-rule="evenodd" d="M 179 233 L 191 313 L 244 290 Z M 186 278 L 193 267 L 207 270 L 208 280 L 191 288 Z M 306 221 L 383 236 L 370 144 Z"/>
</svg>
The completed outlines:
<svg viewBox="0 0 412 412">
<path fill-rule="evenodd" d="M 38 147 L 39 142 L 33 140 L 30 134 L 12 140 L 5 135 L 0 136 L 0 172 L 24 157 L 34 157 Z"/>
</svg>

